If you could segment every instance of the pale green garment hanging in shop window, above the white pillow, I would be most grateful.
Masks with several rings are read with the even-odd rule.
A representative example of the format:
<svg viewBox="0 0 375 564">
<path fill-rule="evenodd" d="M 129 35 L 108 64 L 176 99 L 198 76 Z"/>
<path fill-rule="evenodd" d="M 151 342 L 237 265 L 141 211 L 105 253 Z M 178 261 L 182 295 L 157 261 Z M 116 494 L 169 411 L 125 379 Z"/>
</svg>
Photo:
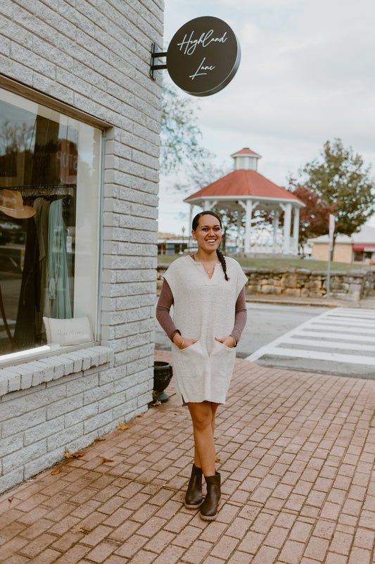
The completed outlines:
<svg viewBox="0 0 375 564">
<path fill-rule="evenodd" d="M 67 229 L 63 220 L 63 201 L 51 202 L 49 208 L 48 272 L 51 317 L 72 318 L 68 261 L 66 253 Z"/>
</svg>

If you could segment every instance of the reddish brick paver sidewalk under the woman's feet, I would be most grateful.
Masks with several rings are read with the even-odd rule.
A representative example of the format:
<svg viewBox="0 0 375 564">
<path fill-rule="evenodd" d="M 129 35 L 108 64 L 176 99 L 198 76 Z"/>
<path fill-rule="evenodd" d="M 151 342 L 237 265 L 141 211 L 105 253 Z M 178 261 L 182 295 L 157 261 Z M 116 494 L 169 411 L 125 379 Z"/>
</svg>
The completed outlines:
<svg viewBox="0 0 375 564">
<path fill-rule="evenodd" d="M 193 441 L 171 396 L 1 496 L 0 561 L 375 563 L 374 405 L 373 381 L 237 360 L 217 415 L 217 520 L 183 506 Z"/>
</svg>

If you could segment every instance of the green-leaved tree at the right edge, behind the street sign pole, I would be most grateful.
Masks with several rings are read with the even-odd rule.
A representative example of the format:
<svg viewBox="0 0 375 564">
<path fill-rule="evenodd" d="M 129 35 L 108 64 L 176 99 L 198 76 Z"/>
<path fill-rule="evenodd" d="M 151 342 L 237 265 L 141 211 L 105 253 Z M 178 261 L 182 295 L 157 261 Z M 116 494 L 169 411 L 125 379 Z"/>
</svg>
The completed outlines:
<svg viewBox="0 0 375 564">
<path fill-rule="evenodd" d="M 315 159 L 300 171 L 306 177 L 304 184 L 326 205 L 335 206 L 335 238 L 338 233 L 350 236 L 374 213 L 371 167 L 365 167 L 362 157 L 351 147 L 344 149 L 341 139 L 327 141 L 320 154 L 323 161 Z"/>
</svg>

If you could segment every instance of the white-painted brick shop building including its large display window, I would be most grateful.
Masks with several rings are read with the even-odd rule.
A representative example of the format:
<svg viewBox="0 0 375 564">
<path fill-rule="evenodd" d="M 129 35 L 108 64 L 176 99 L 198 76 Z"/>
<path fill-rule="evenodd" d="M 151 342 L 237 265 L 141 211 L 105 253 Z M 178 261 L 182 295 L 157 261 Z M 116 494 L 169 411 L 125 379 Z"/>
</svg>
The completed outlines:
<svg viewBox="0 0 375 564">
<path fill-rule="evenodd" d="M 0 17 L 4 491 L 151 401 L 163 0 Z"/>
</svg>

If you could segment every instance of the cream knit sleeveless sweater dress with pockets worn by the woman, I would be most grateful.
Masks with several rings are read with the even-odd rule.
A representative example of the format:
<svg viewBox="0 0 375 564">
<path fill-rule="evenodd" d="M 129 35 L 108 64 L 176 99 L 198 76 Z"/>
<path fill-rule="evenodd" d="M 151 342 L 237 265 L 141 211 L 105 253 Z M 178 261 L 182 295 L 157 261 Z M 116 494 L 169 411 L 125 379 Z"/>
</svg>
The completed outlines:
<svg viewBox="0 0 375 564">
<path fill-rule="evenodd" d="M 236 299 L 247 282 L 239 263 L 225 257 L 209 278 L 201 263 L 191 256 L 177 258 L 165 272 L 173 295 L 173 321 L 185 339 L 196 343 L 179 349 L 172 343 L 174 384 L 183 403 L 214 401 L 225 403 L 236 359 L 236 349 L 215 341 L 234 328 Z"/>
</svg>

